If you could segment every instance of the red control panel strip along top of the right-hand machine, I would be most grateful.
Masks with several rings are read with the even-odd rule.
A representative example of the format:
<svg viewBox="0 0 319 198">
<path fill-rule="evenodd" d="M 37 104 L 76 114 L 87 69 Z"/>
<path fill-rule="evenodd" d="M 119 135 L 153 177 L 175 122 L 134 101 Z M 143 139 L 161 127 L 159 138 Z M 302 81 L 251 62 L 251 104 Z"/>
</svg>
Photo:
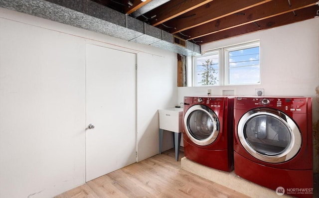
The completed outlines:
<svg viewBox="0 0 319 198">
<path fill-rule="evenodd" d="M 311 98 L 286 98 L 286 97 L 237 97 L 234 108 L 252 109 L 256 107 L 272 107 L 285 112 L 306 113 L 311 109 Z"/>
</svg>

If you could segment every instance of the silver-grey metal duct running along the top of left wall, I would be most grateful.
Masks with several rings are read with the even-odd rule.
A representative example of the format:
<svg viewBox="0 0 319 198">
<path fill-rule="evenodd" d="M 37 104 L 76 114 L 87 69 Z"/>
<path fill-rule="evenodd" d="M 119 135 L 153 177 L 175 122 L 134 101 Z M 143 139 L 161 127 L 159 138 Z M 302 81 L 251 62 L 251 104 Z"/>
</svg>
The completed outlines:
<svg viewBox="0 0 319 198">
<path fill-rule="evenodd" d="M 176 45 L 172 34 L 92 0 L 0 0 L 0 6 L 185 56 L 200 55 L 199 45 Z"/>
</svg>

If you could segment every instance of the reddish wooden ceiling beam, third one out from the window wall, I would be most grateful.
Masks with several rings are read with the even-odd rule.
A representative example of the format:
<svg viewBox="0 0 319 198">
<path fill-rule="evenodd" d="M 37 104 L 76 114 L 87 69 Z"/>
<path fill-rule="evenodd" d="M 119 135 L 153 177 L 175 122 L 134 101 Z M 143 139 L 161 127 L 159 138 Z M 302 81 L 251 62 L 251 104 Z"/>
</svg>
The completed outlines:
<svg viewBox="0 0 319 198">
<path fill-rule="evenodd" d="M 174 27 L 171 33 L 175 34 L 269 1 L 271 0 L 213 0 L 167 21 L 165 25 Z"/>
</svg>

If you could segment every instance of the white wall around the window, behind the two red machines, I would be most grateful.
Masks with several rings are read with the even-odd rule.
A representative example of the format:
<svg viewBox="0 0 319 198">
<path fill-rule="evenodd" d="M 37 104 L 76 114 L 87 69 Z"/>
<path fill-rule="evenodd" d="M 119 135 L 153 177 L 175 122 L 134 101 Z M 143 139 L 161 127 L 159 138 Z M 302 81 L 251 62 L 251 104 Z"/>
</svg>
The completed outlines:
<svg viewBox="0 0 319 198">
<path fill-rule="evenodd" d="M 180 87 L 178 103 L 184 96 L 223 95 L 233 90 L 237 96 L 254 96 L 265 89 L 265 96 L 313 97 L 314 171 L 319 172 L 319 18 L 201 45 L 201 50 L 260 39 L 261 84 L 222 87 Z M 316 92 L 316 89 L 317 92 Z M 316 140 L 316 138 L 317 140 Z"/>
</svg>

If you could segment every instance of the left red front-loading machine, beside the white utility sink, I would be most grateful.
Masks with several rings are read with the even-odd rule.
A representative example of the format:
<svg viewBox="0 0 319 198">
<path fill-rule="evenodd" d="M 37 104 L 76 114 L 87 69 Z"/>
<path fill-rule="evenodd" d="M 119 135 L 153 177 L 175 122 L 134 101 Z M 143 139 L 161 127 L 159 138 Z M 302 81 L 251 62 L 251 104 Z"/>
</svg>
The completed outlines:
<svg viewBox="0 0 319 198">
<path fill-rule="evenodd" d="M 184 97 L 186 158 L 214 169 L 233 170 L 233 104 L 231 97 Z"/>
</svg>

